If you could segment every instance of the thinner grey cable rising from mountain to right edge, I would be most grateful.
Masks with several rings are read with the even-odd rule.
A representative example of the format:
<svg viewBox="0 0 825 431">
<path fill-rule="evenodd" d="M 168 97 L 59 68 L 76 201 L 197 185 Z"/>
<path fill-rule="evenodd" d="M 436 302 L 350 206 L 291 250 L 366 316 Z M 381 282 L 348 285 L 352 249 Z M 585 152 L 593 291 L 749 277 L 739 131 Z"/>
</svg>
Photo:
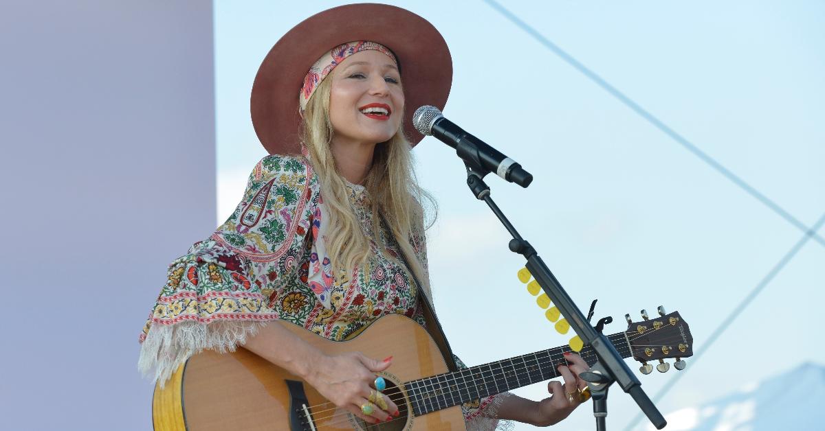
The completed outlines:
<svg viewBox="0 0 825 431">
<path fill-rule="evenodd" d="M 702 344 L 702 348 L 696 352 L 693 358 L 691 358 L 691 363 L 695 363 L 703 354 L 705 354 L 705 352 L 707 352 L 710 349 L 710 346 L 714 344 L 714 342 L 717 339 L 719 339 L 719 336 L 721 336 L 724 333 L 724 331 L 728 329 L 728 327 L 730 327 L 730 325 L 733 323 L 733 321 L 736 320 L 739 314 L 741 314 L 742 311 L 744 311 L 745 308 L 747 308 L 747 306 L 751 304 L 753 299 L 756 298 L 757 295 L 759 295 L 759 293 L 761 293 L 761 291 L 768 285 L 768 283 L 771 283 L 771 280 L 774 279 L 776 274 L 779 274 L 780 270 L 785 268 L 785 265 L 787 265 L 788 262 L 794 258 L 794 256 L 802 248 L 802 246 L 804 246 L 805 243 L 808 242 L 808 239 L 813 238 L 814 235 L 816 235 L 816 232 L 818 231 L 819 227 L 822 227 L 823 223 L 825 223 L 825 214 L 823 214 L 822 217 L 819 218 L 819 220 L 817 221 L 817 223 L 813 225 L 813 227 L 808 229 L 808 232 L 805 232 L 805 234 L 801 238 L 799 238 L 799 241 L 796 241 L 796 244 L 794 244 L 794 246 L 791 247 L 790 250 L 787 253 L 785 253 L 784 256 L 782 256 L 782 259 L 780 259 L 779 262 L 777 262 L 776 265 L 774 265 L 774 267 L 768 272 L 768 274 L 766 274 L 765 277 L 762 278 L 759 283 L 757 283 L 756 287 L 752 288 L 751 292 L 748 293 L 746 297 L 742 298 L 742 302 L 739 302 L 738 306 L 736 306 L 736 308 L 734 308 L 733 311 L 730 312 L 730 314 L 728 314 L 728 316 L 724 318 L 724 321 L 719 323 L 719 326 L 717 326 L 714 332 L 710 334 L 710 336 L 708 337 L 707 342 L 705 342 L 705 344 Z M 670 382 L 667 382 L 667 384 L 665 384 L 665 386 L 663 386 L 662 389 L 658 391 L 656 396 L 653 396 L 653 403 L 658 403 L 662 399 L 662 397 L 667 394 L 667 391 L 669 391 L 670 388 L 676 386 L 676 382 L 678 382 L 679 379 L 681 379 L 681 377 L 685 375 L 686 371 L 687 370 L 682 372 L 676 372 L 676 374 L 673 377 L 671 377 Z M 633 429 L 634 426 L 639 424 L 639 421 L 642 419 L 642 417 L 642 413 L 636 415 L 634 419 L 630 421 L 630 424 L 628 424 L 628 426 L 625 428 L 625 431 Z"/>
</svg>

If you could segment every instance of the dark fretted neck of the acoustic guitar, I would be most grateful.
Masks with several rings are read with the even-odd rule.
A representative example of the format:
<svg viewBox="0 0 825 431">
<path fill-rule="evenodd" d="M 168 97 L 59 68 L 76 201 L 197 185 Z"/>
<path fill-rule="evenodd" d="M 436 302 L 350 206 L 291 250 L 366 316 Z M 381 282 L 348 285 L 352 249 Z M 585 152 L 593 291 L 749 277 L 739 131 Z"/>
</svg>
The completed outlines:
<svg viewBox="0 0 825 431">
<path fill-rule="evenodd" d="M 608 335 L 607 339 L 622 358 L 633 355 L 624 332 Z M 568 363 L 564 359 L 565 352 L 572 352 L 570 346 L 523 354 L 457 372 L 446 372 L 406 382 L 404 386 L 413 405 L 413 413 L 417 416 L 427 415 L 453 405 L 559 377 L 556 368 L 559 364 Z M 596 363 L 596 354 L 591 346 L 585 347 L 578 354 L 588 365 Z"/>
</svg>

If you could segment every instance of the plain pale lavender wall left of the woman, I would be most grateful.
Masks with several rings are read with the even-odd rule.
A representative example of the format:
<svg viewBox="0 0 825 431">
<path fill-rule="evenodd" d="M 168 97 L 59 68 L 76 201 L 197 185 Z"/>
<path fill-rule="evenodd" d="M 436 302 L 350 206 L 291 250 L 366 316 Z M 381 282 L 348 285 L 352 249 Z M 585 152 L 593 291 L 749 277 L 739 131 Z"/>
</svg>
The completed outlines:
<svg viewBox="0 0 825 431">
<path fill-rule="evenodd" d="M 214 228 L 211 2 L 0 7 L 0 429 L 151 429 L 138 335 Z"/>
</svg>

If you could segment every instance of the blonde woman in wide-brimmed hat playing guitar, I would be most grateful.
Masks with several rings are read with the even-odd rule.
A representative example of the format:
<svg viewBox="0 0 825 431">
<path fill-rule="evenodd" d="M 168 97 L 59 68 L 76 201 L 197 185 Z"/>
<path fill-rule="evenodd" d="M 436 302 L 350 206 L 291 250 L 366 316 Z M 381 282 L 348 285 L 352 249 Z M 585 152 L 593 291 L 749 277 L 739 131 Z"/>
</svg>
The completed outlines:
<svg viewBox="0 0 825 431">
<path fill-rule="evenodd" d="M 271 156 L 253 169 L 229 220 L 169 266 L 139 368 L 154 368 L 163 383 L 201 349 L 243 345 L 370 423 L 397 416 L 375 378 L 392 357 L 324 354 L 281 321 L 329 340 L 390 313 L 425 324 L 417 289 L 430 297 L 426 194 L 410 154 L 422 135 L 409 119 L 419 105 L 443 107 L 451 76 L 438 31 L 398 7 L 336 7 L 284 35 L 252 89 L 252 121 Z M 568 360 L 564 386 L 549 384 L 553 396 L 464 405 L 468 428 L 565 418 L 581 402 L 573 394 L 587 368 Z"/>
</svg>

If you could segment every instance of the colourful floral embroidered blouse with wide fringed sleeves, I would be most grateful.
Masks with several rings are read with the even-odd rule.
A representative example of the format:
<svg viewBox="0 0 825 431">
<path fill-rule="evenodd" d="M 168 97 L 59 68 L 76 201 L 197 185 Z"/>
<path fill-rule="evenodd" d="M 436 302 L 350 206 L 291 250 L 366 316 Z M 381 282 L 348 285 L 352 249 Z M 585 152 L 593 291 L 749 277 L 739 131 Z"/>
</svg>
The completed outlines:
<svg viewBox="0 0 825 431">
<path fill-rule="evenodd" d="M 344 340 L 389 313 L 412 317 L 423 326 L 413 279 L 387 257 L 398 257 L 397 246 L 384 229 L 374 232 L 375 214 L 364 187 L 348 189 L 372 253 L 365 265 L 335 279 L 323 241 L 323 197 L 312 166 L 304 157 L 278 155 L 258 162 L 229 219 L 169 265 L 167 283 L 140 335 L 139 368 L 154 368 L 155 377 L 165 382 L 192 354 L 233 350 L 275 319 L 328 340 Z M 422 229 L 415 230 L 411 242 L 426 270 Z M 494 420 L 485 417 L 493 416 L 494 409 L 484 409 L 497 404 L 493 398 L 463 406 L 465 419 L 479 418 L 468 424 L 471 428 L 495 428 Z"/>
</svg>

